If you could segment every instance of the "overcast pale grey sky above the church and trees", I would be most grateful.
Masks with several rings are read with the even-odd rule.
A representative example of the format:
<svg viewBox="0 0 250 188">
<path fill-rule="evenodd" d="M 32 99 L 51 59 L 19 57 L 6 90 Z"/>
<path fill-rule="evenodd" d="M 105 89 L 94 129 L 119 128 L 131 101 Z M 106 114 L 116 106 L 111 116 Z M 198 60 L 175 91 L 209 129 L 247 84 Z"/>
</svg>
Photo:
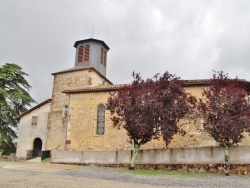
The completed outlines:
<svg viewBox="0 0 250 188">
<path fill-rule="evenodd" d="M 42 102 L 51 73 L 74 66 L 75 41 L 93 35 L 110 47 L 114 84 L 130 83 L 133 71 L 250 80 L 249 10 L 249 0 L 0 0 L 0 66 L 21 66 Z"/>
</svg>

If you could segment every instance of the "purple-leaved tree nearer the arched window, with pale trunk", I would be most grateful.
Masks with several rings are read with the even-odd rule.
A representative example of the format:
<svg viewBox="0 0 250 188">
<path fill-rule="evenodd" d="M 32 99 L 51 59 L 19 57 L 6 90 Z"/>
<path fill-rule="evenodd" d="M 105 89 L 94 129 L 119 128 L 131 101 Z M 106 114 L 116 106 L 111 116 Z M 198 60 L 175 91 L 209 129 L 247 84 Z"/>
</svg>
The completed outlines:
<svg viewBox="0 0 250 188">
<path fill-rule="evenodd" d="M 134 74 L 134 81 L 111 93 L 107 109 L 113 115 L 115 127 L 127 131 L 134 144 L 129 169 L 135 168 L 140 147 L 162 134 L 168 145 L 178 131 L 178 121 L 189 111 L 188 102 L 195 98 L 188 96 L 178 77 L 168 72 L 163 76 L 143 80 Z"/>
</svg>

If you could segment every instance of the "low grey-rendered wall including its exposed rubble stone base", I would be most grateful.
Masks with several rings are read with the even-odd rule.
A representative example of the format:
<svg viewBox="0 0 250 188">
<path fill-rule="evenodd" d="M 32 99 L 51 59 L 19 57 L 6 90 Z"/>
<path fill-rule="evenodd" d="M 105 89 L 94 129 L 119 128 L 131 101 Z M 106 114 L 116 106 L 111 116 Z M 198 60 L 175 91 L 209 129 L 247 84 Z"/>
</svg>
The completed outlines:
<svg viewBox="0 0 250 188">
<path fill-rule="evenodd" d="M 131 150 L 123 151 L 51 151 L 52 163 L 94 164 L 128 167 Z M 250 174 L 250 147 L 231 147 L 230 174 Z M 137 169 L 177 170 L 183 172 L 223 173 L 224 151 L 221 147 L 140 150 Z"/>
</svg>

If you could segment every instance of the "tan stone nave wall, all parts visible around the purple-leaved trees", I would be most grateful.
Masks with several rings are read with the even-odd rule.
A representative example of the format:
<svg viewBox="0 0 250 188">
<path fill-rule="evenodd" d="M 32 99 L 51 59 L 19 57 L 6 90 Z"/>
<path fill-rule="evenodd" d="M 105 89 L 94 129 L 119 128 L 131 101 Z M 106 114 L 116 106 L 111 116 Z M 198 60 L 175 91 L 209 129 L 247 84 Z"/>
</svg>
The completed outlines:
<svg viewBox="0 0 250 188">
<path fill-rule="evenodd" d="M 193 93 L 197 97 L 201 95 L 201 87 L 190 87 L 187 92 Z M 84 92 L 70 94 L 70 114 L 67 120 L 67 150 L 127 150 L 133 149 L 133 145 L 128 142 L 126 131 L 113 127 L 110 120 L 111 115 L 108 110 L 105 114 L 105 133 L 96 133 L 97 107 L 99 104 L 106 104 L 109 97 L 108 91 Z M 168 147 L 194 147 L 213 146 L 216 143 L 206 134 L 201 134 L 198 130 L 202 127 L 202 121 L 181 121 L 181 128 L 186 131 L 185 135 L 176 135 Z M 166 148 L 162 138 L 152 140 L 143 145 L 142 149 L 162 149 Z"/>
</svg>

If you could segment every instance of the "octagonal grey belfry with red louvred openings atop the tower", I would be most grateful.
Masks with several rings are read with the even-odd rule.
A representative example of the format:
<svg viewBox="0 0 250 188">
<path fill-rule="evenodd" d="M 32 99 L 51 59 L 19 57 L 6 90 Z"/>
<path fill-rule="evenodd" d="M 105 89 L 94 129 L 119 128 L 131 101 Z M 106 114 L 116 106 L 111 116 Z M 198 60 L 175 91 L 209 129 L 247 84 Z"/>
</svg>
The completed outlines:
<svg viewBox="0 0 250 188">
<path fill-rule="evenodd" d="M 76 41 L 75 67 L 95 68 L 106 77 L 108 45 L 97 39 L 85 39 Z"/>
</svg>

